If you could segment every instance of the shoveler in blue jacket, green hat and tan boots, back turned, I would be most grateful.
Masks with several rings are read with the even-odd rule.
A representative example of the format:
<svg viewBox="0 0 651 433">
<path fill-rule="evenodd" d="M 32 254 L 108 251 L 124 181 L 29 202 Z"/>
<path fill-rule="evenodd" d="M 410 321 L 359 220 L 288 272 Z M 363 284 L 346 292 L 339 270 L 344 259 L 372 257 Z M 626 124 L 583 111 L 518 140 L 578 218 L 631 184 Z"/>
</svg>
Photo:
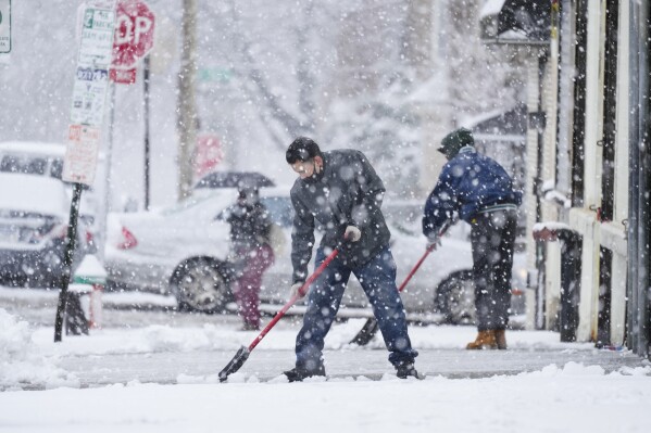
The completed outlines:
<svg viewBox="0 0 651 433">
<path fill-rule="evenodd" d="M 448 163 L 427 198 L 423 234 L 429 245 L 453 215 L 468 222 L 473 247 L 473 276 L 477 338 L 468 349 L 506 348 L 513 245 L 522 192 L 504 168 L 475 150 L 473 133 L 465 128 L 447 135 L 438 149 Z"/>
</svg>

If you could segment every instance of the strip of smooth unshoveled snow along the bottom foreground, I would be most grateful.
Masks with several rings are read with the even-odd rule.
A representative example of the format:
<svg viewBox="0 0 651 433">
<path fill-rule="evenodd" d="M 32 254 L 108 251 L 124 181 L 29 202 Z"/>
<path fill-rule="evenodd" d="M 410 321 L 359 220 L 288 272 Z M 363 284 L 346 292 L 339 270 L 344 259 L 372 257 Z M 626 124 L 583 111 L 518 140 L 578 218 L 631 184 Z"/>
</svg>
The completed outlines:
<svg viewBox="0 0 651 433">
<path fill-rule="evenodd" d="M 0 394 L 2 432 L 647 432 L 651 377 L 140 384 Z M 648 371 L 647 371 L 648 374 Z"/>
</svg>

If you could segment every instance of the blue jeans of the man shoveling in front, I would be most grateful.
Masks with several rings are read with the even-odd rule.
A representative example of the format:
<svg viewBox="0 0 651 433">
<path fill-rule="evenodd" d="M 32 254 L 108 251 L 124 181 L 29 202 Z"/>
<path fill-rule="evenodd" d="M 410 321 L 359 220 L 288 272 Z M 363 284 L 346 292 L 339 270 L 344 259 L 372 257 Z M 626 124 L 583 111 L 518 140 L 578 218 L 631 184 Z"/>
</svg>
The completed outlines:
<svg viewBox="0 0 651 433">
<path fill-rule="evenodd" d="M 326 258 L 323 249 L 316 251 L 315 268 Z M 296 339 L 297 368 L 316 371 L 323 367 L 323 346 L 350 275 L 360 281 L 373 307 L 387 349 L 389 361 L 398 367 L 413 364 L 418 355 L 412 348 L 406 332 L 404 307 L 396 286 L 396 262 L 389 247 L 383 249 L 363 266 L 351 269 L 337 257 L 310 286 L 303 327 Z"/>
</svg>

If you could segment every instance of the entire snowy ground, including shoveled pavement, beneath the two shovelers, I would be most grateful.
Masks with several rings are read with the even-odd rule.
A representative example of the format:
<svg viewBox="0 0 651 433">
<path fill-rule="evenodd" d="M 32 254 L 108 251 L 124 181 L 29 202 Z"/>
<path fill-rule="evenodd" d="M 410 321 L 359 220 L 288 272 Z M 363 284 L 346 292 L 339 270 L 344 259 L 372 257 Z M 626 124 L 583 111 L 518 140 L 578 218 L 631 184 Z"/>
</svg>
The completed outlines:
<svg viewBox="0 0 651 433">
<path fill-rule="evenodd" d="M 413 327 L 427 378 L 400 381 L 379 342 L 347 344 L 362 323 L 349 320 L 328 335 L 330 379 L 289 384 L 278 375 L 292 362 L 289 319 L 218 383 L 256 335 L 236 331 L 236 317 L 104 308 L 101 330 L 55 344 L 54 300 L 0 288 L 0 432 L 646 432 L 651 422 L 648 361 L 553 332 L 513 331 L 509 351 L 468 353 L 472 328 Z"/>
</svg>

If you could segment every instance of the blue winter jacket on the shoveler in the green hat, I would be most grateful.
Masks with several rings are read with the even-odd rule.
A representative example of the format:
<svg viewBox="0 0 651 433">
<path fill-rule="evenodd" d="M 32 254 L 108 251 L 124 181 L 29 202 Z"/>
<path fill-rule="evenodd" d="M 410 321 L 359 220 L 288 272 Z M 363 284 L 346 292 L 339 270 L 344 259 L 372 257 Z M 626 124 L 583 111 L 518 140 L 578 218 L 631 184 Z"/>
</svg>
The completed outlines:
<svg viewBox="0 0 651 433">
<path fill-rule="evenodd" d="M 504 168 L 475 148 L 462 148 L 441 170 L 438 182 L 425 203 L 423 234 L 437 234 L 456 212 L 464 221 L 475 215 L 499 208 L 514 208 L 522 203 L 522 192 Z"/>
</svg>

